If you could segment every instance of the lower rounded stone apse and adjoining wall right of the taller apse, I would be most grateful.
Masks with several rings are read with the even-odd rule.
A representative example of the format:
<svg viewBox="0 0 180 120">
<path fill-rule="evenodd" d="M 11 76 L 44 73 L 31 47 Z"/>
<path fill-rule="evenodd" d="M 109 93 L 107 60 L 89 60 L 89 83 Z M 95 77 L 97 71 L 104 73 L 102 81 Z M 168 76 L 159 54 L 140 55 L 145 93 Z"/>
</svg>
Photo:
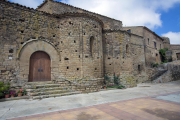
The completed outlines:
<svg viewBox="0 0 180 120">
<path fill-rule="evenodd" d="M 120 83 L 134 87 L 146 81 L 143 39 L 121 30 L 107 30 L 103 34 L 104 70 L 113 77 L 120 74 Z"/>
</svg>

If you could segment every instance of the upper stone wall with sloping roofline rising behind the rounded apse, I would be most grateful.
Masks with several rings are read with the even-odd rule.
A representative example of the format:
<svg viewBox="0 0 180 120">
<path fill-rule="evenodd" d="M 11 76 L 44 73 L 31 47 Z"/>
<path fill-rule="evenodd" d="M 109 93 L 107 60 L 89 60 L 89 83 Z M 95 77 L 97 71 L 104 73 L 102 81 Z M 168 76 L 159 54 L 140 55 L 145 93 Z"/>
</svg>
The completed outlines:
<svg viewBox="0 0 180 120">
<path fill-rule="evenodd" d="M 56 2 L 56 1 L 45 1 L 45 3 L 43 3 L 38 10 L 40 11 L 45 11 L 51 14 L 63 14 L 63 13 L 67 13 L 67 12 L 72 12 L 72 13 L 87 13 L 89 15 L 93 15 L 98 17 L 100 20 L 103 21 L 104 23 L 104 29 L 122 29 L 122 22 L 119 20 L 115 20 L 106 16 L 102 16 L 96 13 L 92 13 L 80 8 L 76 8 L 64 3 L 60 3 L 60 2 Z"/>
</svg>

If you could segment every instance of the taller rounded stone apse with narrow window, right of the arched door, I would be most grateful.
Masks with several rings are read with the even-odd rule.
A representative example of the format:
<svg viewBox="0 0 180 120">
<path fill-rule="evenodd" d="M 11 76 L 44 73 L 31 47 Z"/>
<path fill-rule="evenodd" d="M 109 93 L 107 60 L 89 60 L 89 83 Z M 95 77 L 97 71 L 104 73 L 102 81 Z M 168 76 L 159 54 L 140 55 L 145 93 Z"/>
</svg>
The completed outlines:
<svg viewBox="0 0 180 120">
<path fill-rule="evenodd" d="M 60 24 L 62 25 L 58 34 L 62 58 L 60 75 L 66 78 L 73 77 L 73 79 L 101 78 L 103 71 L 101 26 L 87 18 L 63 18 Z M 90 52 L 91 37 L 94 38 L 92 54 Z"/>
</svg>

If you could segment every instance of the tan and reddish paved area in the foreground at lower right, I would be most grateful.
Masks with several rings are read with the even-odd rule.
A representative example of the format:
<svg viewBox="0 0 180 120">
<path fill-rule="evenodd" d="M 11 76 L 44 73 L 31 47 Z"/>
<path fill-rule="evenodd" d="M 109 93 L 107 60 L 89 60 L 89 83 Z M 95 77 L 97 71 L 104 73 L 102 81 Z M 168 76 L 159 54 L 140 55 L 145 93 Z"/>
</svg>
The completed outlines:
<svg viewBox="0 0 180 120">
<path fill-rule="evenodd" d="M 180 120 L 180 104 L 144 97 L 8 120 Z"/>
</svg>

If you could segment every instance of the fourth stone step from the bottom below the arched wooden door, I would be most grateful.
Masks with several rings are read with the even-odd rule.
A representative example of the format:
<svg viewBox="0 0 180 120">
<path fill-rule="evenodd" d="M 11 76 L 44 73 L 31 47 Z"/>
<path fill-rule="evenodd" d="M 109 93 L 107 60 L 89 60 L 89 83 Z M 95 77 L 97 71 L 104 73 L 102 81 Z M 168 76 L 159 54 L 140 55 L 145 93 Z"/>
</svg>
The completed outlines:
<svg viewBox="0 0 180 120">
<path fill-rule="evenodd" d="M 60 84 L 26 85 L 26 89 L 61 87 Z"/>
</svg>

